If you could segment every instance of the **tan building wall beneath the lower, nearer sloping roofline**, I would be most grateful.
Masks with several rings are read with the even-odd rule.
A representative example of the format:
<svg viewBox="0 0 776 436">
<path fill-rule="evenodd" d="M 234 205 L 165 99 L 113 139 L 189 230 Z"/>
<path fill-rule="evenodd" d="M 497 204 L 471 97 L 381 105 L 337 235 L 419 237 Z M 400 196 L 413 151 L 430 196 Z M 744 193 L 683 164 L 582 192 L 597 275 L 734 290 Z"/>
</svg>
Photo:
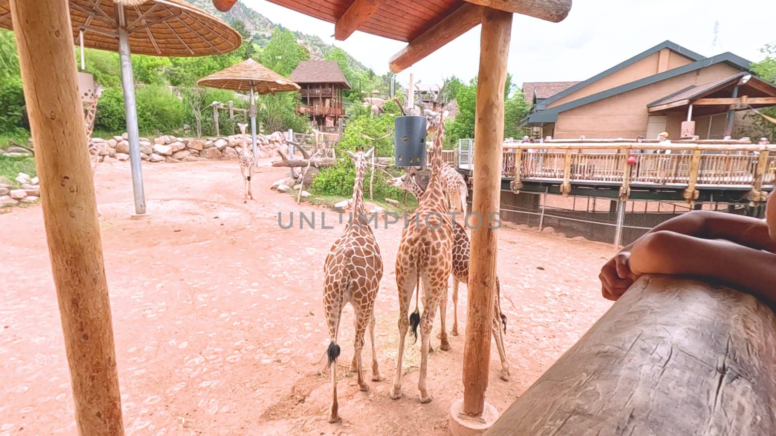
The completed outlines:
<svg viewBox="0 0 776 436">
<path fill-rule="evenodd" d="M 740 70 L 728 64 L 714 64 L 690 71 L 675 78 L 613 95 L 558 114 L 554 138 L 573 139 L 580 135 L 587 138 L 636 138 L 646 135 L 649 113 L 646 105 L 690 85 L 702 85 L 720 80 Z M 580 89 L 580 92 L 584 89 Z M 681 112 L 667 115 L 667 132 L 671 138 L 680 135 L 681 122 L 686 119 Z M 715 121 L 716 123 L 716 121 Z M 706 125 L 708 129 L 708 124 Z M 699 131 L 696 126 L 696 131 Z"/>
</svg>

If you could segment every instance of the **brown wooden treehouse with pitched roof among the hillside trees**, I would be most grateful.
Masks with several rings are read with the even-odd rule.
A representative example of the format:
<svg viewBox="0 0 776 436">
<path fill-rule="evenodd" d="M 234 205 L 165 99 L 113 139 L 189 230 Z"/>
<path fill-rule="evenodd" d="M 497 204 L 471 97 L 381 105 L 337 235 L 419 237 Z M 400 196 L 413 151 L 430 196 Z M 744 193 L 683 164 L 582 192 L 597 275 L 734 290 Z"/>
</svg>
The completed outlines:
<svg viewBox="0 0 776 436">
<path fill-rule="evenodd" d="M 317 130 L 336 130 L 345 118 L 342 92 L 350 89 L 339 64 L 336 61 L 301 61 L 290 78 L 302 88 L 302 104 L 296 106 L 296 113 L 309 115 Z"/>
</svg>

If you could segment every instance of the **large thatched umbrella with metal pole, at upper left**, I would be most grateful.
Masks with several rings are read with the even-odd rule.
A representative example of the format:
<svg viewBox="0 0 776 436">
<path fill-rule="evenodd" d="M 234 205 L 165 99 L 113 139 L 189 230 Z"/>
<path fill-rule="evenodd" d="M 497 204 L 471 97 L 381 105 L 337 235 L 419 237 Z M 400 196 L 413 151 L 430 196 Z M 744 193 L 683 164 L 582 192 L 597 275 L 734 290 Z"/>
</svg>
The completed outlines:
<svg viewBox="0 0 776 436">
<path fill-rule="evenodd" d="M 119 52 L 135 213 L 142 215 L 146 206 L 130 51 L 206 56 L 235 50 L 242 38 L 220 19 L 183 0 L 69 0 L 69 6 L 74 41 Z M 0 27 L 12 29 L 9 0 L 0 0 Z"/>
</svg>

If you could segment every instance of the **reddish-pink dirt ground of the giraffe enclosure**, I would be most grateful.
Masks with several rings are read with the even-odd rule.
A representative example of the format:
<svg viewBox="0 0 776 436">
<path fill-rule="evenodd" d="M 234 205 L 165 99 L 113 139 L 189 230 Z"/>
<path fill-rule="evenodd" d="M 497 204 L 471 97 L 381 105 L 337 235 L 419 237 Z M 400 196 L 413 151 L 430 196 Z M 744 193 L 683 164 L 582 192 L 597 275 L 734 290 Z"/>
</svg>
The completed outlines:
<svg viewBox="0 0 776 436">
<path fill-rule="evenodd" d="M 343 314 L 338 383 L 341 424 L 328 424 L 324 361 L 324 257 L 333 230 L 283 230 L 278 213 L 317 212 L 268 186 L 287 174 L 268 161 L 243 204 L 237 162 L 144 165 L 150 216 L 133 210 L 127 163 L 97 169 L 100 227 L 128 434 L 446 434 L 462 396 L 464 335 L 429 358 L 434 400 L 418 402 L 419 345 L 405 353 L 404 397 L 390 400 L 396 369 L 400 225 L 376 230 L 386 269 L 376 303 L 383 382 L 359 391 L 347 373 L 352 309 Z M 287 216 L 287 215 L 286 215 Z M 327 222 L 329 226 L 331 221 Z M 40 206 L 0 215 L 0 433 L 76 434 L 70 375 Z M 535 230 L 499 232 L 501 307 L 511 381 L 493 347 L 487 400 L 505 410 L 584 334 L 610 303 L 598 270 L 607 244 Z M 459 323 L 466 329 L 466 286 Z M 435 333 L 438 330 L 435 322 Z M 448 328 L 452 326 L 452 303 Z M 438 348 L 438 339 L 432 344 Z M 369 368 L 369 340 L 364 362 Z M 369 372 L 366 372 L 369 377 Z"/>
</svg>

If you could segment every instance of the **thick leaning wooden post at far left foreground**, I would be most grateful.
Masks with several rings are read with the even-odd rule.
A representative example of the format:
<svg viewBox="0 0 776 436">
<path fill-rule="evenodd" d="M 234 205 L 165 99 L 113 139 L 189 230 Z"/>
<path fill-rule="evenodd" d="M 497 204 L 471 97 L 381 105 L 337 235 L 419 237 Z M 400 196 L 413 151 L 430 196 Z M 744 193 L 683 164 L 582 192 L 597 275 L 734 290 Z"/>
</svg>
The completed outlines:
<svg viewBox="0 0 776 436">
<path fill-rule="evenodd" d="M 83 147 L 68 5 L 10 2 L 78 433 L 122 435 L 108 285 L 92 167 Z"/>
</svg>

